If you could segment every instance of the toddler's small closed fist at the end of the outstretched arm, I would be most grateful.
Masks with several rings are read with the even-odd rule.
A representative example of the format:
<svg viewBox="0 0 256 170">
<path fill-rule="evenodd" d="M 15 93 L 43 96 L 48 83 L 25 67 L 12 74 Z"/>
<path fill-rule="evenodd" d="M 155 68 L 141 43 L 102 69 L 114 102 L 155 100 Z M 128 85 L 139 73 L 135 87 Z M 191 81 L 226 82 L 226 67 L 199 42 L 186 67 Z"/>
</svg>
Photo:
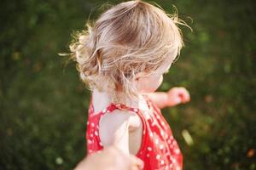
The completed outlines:
<svg viewBox="0 0 256 170">
<path fill-rule="evenodd" d="M 171 88 L 167 93 L 167 106 L 174 106 L 190 101 L 190 95 L 186 88 Z"/>
</svg>

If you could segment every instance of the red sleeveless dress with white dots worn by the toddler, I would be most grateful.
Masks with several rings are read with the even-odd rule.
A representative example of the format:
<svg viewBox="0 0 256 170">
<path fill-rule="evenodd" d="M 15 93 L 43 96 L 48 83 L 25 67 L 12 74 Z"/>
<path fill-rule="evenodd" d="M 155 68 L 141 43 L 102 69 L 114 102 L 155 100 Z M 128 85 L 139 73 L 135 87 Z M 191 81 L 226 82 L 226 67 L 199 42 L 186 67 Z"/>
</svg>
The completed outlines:
<svg viewBox="0 0 256 170">
<path fill-rule="evenodd" d="M 92 98 L 90 99 L 89 115 L 87 121 L 86 139 L 87 154 L 102 150 L 99 138 L 99 121 L 105 113 L 115 109 L 134 111 L 143 122 L 142 144 L 137 152 L 137 157 L 144 161 L 144 170 L 180 170 L 183 169 L 183 155 L 172 136 L 171 127 L 161 115 L 160 109 L 145 96 L 148 108 L 153 110 L 153 115 L 145 115 L 137 108 L 127 107 L 123 104 L 108 105 L 106 109 L 94 114 Z"/>
</svg>

